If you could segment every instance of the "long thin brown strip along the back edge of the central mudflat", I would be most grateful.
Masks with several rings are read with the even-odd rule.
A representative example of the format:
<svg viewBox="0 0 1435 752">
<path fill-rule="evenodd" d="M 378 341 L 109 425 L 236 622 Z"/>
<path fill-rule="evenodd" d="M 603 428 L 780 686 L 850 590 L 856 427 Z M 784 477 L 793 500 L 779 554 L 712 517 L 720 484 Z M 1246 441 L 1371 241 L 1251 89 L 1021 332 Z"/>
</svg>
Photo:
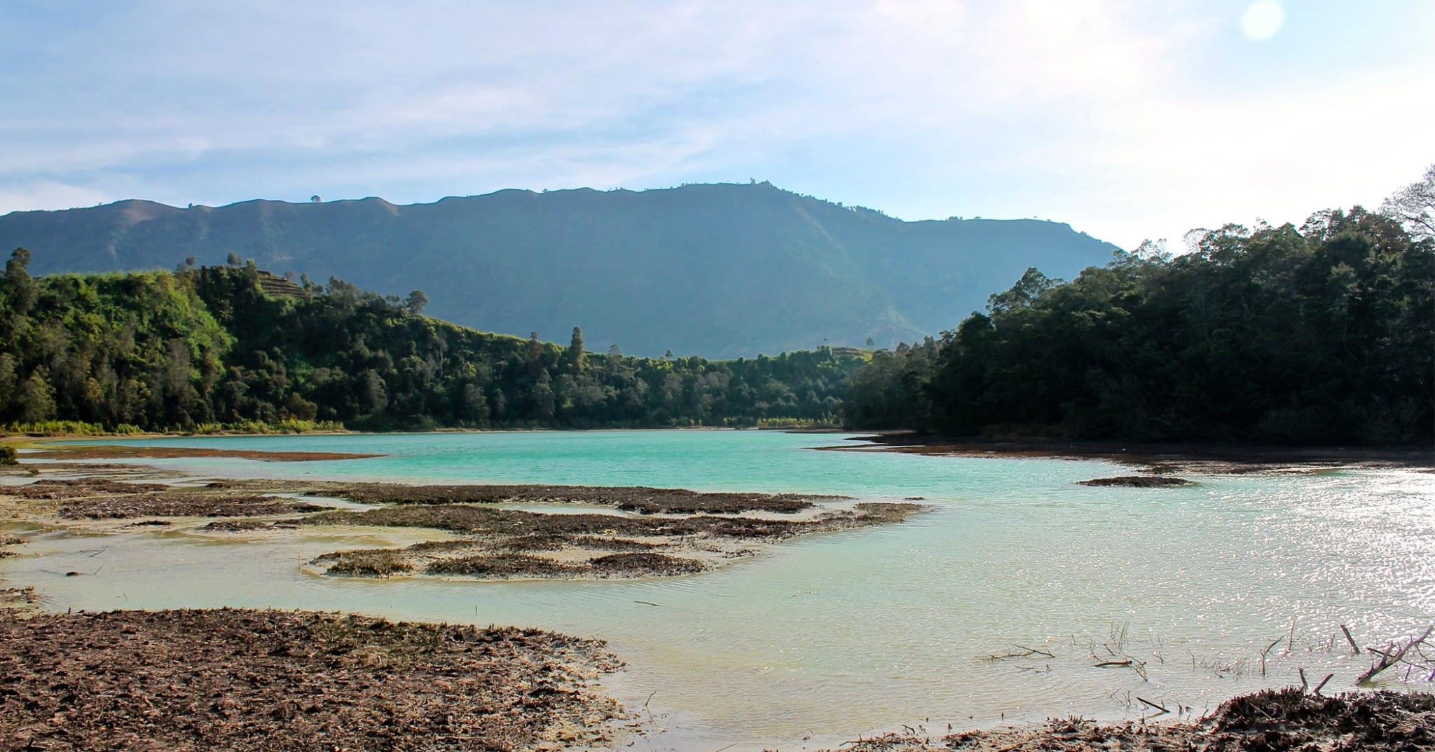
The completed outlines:
<svg viewBox="0 0 1435 752">
<path fill-rule="evenodd" d="M 686 488 L 594 485 L 396 485 L 359 484 L 326 494 L 367 504 L 598 504 L 641 514 L 795 514 L 817 499 L 806 494 L 703 494 Z"/>
</svg>

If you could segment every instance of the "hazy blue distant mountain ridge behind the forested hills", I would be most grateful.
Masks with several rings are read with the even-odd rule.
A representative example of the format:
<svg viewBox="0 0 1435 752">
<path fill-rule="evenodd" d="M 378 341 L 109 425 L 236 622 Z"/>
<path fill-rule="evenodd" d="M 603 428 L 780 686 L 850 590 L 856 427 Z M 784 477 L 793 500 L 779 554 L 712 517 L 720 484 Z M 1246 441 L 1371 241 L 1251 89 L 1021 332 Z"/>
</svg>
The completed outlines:
<svg viewBox="0 0 1435 752">
<path fill-rule="evenodd" d="M 230 253 L 263 268 L 406 294 L 488 332 L 596 350 L 706 357 L 891 347 L 954 327 L 1027 267 L 1071 277 L 1116 250 L 1035 220 L 904 222 L 769 184 L 660 191 L 499 191 L 175 208 L 119 201 L 0 217 L 32 271 L 172 268 Z"/>
</svg>

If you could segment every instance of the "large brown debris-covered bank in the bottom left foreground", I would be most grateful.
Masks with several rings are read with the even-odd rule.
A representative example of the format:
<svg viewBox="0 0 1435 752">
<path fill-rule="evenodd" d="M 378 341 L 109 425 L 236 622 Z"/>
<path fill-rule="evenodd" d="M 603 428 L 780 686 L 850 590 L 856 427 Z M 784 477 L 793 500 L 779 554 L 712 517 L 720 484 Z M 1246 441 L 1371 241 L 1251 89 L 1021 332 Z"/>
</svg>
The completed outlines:
<svg viewBox="0 0 1435 752">
<path fill-rule="evenodd" d="M 541 751 L 613 742 L 603 643 L 304 611 L 0 616 L 0 749 Z"/>
</svg>

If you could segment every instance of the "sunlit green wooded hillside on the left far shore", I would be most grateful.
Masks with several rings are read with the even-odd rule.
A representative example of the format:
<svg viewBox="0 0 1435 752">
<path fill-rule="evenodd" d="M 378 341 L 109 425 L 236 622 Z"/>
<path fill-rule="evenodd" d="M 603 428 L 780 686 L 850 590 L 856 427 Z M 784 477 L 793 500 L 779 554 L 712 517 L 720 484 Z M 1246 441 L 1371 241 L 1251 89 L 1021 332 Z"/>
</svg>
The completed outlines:
<svg viewBox="0 0 1435 752">
<path fill-rule="evenodd" d="M 422 316 L 253 263 L 0 281 L 0 425 L 108 431 L 829 425 L 854 352 L 726 362 L 588 353 Z"/>
</svg>

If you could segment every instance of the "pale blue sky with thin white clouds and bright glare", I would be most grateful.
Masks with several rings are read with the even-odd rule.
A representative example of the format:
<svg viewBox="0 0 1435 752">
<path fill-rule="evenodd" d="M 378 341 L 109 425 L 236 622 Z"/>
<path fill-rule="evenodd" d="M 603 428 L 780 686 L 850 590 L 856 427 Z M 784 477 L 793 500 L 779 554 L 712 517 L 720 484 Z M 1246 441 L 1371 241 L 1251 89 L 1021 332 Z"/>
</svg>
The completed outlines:
<svg viewBox="0 0 1435 752">
<path fill-rule="evenodd" d="M 771 181 L 1132 248 L 1435 162 L 1428 0 L 0 0 L 0 214 Z"/>
</svg>

